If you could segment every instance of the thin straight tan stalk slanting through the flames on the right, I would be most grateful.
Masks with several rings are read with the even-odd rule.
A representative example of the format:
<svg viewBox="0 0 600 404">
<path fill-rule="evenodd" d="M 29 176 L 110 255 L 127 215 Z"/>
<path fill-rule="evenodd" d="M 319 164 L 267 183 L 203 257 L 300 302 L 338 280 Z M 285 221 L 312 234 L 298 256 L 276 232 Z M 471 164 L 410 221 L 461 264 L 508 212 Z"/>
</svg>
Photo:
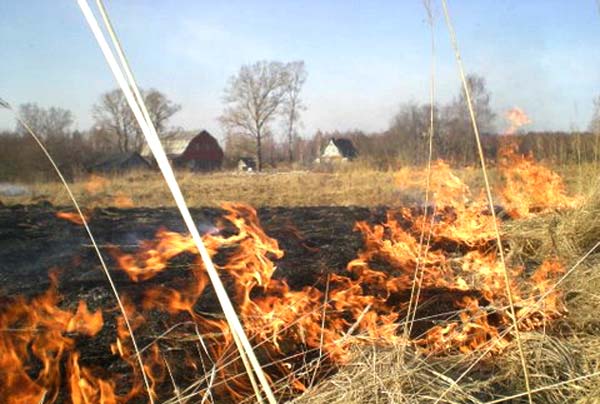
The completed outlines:
<svg viewBox="0 0 600 404">
<path fill-rule="evenodd" d="M 508 276 L 508 271 L 506 269 L 506 262 L 504 259 L 504 249 L 502 248 L 502 239 L 500 237 L 500 230 L 498 229 L 498 221 L 496 220 L 496 212 L 494 210 L 494 200 L 492 198 L 492 191 L 490 188 L 490 183 L 487 175 L 487 170 L 485 166 L 485 157 L 483 155 L 483 148 L 481 146 L 481 139 L 479 136 L 479 127 L 477 126 L 477 120 L 475 119 L 475 109 L 473 108 L 473 102 L 471 100 L 471 92 L 469 86 L 467 84 L 467 79 L 465 77 L 465 71 L 463 68 L 462 59 L 460 56 L 460 51 L 458 48 L 458 41 L 456 39 L 456 34 L 454 32 L 454 28 L 452 26 L 452 22 L 450 20 L 450 13 L 448 12 L 448 5 L 446 0 L 442 0 L 442 7 L 444 8 L 444 16 L 446 17 L 446 24 L 448 25 L 448 32 L 450 34 L 450 41 L 452 42 L 452 47 L 454 48 L 454 54 L 456 57 L 456 63 L 458 65 L 458 71 L 460 74 L 460 79 L 462 81 L 463 90 L 465 92 L 465 97 L 467 100 L 467 106 L 469 107 L 469 115 L 471 117 L 471 123 L 473 124 L 473 131 L 475 132 L 475 140 L 477 142 L 477 151 L 479 153 L 479 161 L 481 163 L 481 171 L 483 172 L 483 180 L 485 182 L 485 192 L 487 195 L 490 213 L 492 215 L 492 221 L 494 223 L 494 232 L 496 233 L 496 242 L 498 244 L 498 256 L 500 257 L 500 264 L 502 266 L 502 272 L 504 275 L 504 285 L 506 287 L 506 295 L 508 297 L 508 303 L 510 305 L 510 315 L 515 325 L 515 338 L 517 340 L 517 346 L 519 347 L 519 356 L 521 358 L 521 366 L 523 367 L 523 376 L 525 379 L 525 387 L 529 394 L 527 398 L 529 400 L 529 404 L 533 404 L 533 398 L 531 396 L 531 387 L 529 384 L 529 371 L 527 370 L 527 363 L 525 361 L 525 352 L 523 350 L 523 344 L 521 342 L 521 335 L 519 333 L 519 329 L 516 326 L 517 324 L 517 315 L 515 311 L 514 299 L 512 295 L 512 290 L 510 289 L 510 279 Z M 442 397 L 440 397 L 441 399 Z M 439 400 L 438 400 L 439 401 Z"/>
</svg>

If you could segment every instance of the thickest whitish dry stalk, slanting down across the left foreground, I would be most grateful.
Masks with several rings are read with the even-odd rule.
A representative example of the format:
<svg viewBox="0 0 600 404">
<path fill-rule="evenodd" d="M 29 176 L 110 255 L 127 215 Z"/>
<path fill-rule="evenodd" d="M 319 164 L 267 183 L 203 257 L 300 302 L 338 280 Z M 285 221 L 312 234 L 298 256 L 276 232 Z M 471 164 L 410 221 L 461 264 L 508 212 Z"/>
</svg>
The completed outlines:
<svg viewBox="0 0 600 404">
<path fill-rule="evenodd" d="M 256 358 L 253 347 L 250 344 L 250 341 L 248 340 L 246 333 L 244 332 L 244 328 L 242 327 L 242 324 L 233 308 L 231 300 L 229 299 L 229 296 L 227 295 L 227 291 L 225 290 L 225 287 L 223 286 L 223 283 L 221 282 L 221 279 L 219 278 L 219 274 L 217 273 L 217 270 L 215 269 L 212 259 L 209 255 L 208 251 L 206 250 L 206 246 L 204 245 L 204 242 L 202 241 L 202 237 L 200 236 L 200 233 L 198 232 L 198 228 L 196 227 L 194 219 L 192 218 L 192 215 L 191 215 L 191 213 L 188 209 L 188 206 L 185 202 L 185 198 L 183 197 L 181 189 L 179 188 L 179 184 L 177 183 L 177 179 L 175 178 L 173 169 L 171 168 L 169 160 L 168 160 L 168 158 L 165 154 L 165 151 L 160 143 L 158 134 L 156 133 L 156 129 L 154 128 L 154 125 L 151 124 L 151 122 L 147 122 L 145 119 L 145 117 L 148 114 L 147 114 L 147 112 L 146 113 L 142 112 L 142 109 L 145 108 L 144 103 L 140 103 L 138 105 L 136 102 L 136 97 L 132 93 L 131 87 L 137 87 L 137 86 L 136 86 L 135 82 L 128 83 L 127 80 L 125 79 L 123 72 L 122 72 L 121 68 L 119 67 L 119 64 L 117 63 L 117 60 L 115 59 L 115 57 L 110 49 L 110 46 L 108 45 L 106 39 L 104 38 L 104 34 L 102 33 L 102 30 L 100 29 L 98 22 L 96 21 L 96 17 L 94 16 L 91 9 L 89 8 L 87 0 L 77 0 L 77 3 L 79 4 L 79 7 L 81 8 L 81 11 L 90 27 L 92 33 L 94 34 L 94 37 L 96 38 L 96 41 L 98 42 L 98 45 L 100 46 L 100 49 L 102 50 L 102 53 L 104 54 L 104 57 L 109 65 L 117 83 L 121 87 L 121 90 L 123 91 L 123 94 L 125 95 L 127 103 L 129 104 L 130 108 L 132 109 L 133 114 L 134 114 L 138 124 L 140 125 L 140 128 L 142 129 L 144 137 L 146 138 L 146 141 L 148 142 L 148 146 L 150 147 L 150 150 L 152 151 L 152 154 L 163 174 L 163 177 L 165 178 L 165 181 L 167 182 L 167 185 L 169 186 L 169 189 L 171 191 L 171 194 L 173 195 L 175 203 L 177 204 L 177 208 L 179 209 L 179 211 L 181 213 L 183 221 L 185 222 L 186 227 L 188 228 L 188 231 L 190 232 L 192 239 L 194 240 L 194 243 L 198 249 L 198 252 L 200 253 L 200 257 L 202 258 L 202 261 L 206 268 L 206 272 L 207 272 L 207 274 L 211 280 L 211 283 L 215 289 L 215 293 L 217 295 L 219 303 L 221 304 L 221 307 L 223 308 L 223 312 L 225 314 L 225 318 L 227 319 L 227 323 L 229 324 L 229 327 L 231 328 L 232 335 L 235 336 L 237 334 L 237 338 L 234 338 L 234 341 L 236 342 L 236 346 L 237 346 L 238 350 L 240 351 L 240 355 L 243 356 L 242 352 L 245 351 L 246 355 L 248 356 L 249 362 L 251 364 L 251 368 L 247 368 L 247 371 L 250 374 L 252 372 L 252 370 L 254 370 L 254 372 L 256 373 L 256 375 L 261 383 L 261 387 L 262 387 L 263 391 L 265 392 L 265 395 L 267 396 L 269 403 L 274 404 L 276 402 L 276 400 L 275 400 L 275 396 L 273 395 L 273 392 L 271 391 L 271 387 L 269 386 L 269 381 L 267 380 L 267 378 L 261 368 L 261 365 L 258 362 L 258 359 Z M 122 62 L 124 64 L 127 64 L 126 61 L 122 61 Z M 260 396 L 260 391 L 255 391 L 255 394 L 257 395 L 257 397 Z"/>
</svg>

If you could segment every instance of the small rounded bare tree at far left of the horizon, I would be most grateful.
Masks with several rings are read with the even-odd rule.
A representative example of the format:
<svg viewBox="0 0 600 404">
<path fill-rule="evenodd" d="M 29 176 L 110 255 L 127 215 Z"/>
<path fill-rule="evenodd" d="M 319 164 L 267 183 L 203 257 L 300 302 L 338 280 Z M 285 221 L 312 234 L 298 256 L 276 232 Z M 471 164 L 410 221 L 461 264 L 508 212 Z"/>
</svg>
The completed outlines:
<svg viewBox="0 0 600 404">
<path fill-rule="evenodd" d="M 19 106 L 20 118 L 43 139 L 63 138 L 70 134 L 73 125 L 71 111 L 58 107 L 42 108 L 34 103 Z M 17 122 L 16 131 L 26 134 L 26 130 Z"/>
</svg>

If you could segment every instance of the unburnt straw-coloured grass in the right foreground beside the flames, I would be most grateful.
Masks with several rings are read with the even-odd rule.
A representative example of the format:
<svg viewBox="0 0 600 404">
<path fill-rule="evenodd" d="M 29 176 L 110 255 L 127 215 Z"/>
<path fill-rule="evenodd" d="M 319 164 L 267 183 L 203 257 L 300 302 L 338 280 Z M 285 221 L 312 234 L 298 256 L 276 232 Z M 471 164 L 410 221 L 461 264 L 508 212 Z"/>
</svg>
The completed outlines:
<svg viewBox="0 0 600 404">
<path fill-rule="evenodd" d="M 567 268 L 600 241 L 600 187 L 581 208 L 509 223 L 505 236 L 511 259 L 540 261 L 558 256 Z M 536 403 L 600 402 L 600 251 L 558 285 L 568 314 L 540 332 L 523 333 L 527 368 Z M 527 402 L 523 370 L 515 343 L 504 353 L 424 357 L 402 347 L 366 347 L 328 381 L 297 403 L 485 403 Z M 463 371 L 469 369 L 464 378 Z M 456 386 L 449 390 L 455 380 Z"/>
</svg>

